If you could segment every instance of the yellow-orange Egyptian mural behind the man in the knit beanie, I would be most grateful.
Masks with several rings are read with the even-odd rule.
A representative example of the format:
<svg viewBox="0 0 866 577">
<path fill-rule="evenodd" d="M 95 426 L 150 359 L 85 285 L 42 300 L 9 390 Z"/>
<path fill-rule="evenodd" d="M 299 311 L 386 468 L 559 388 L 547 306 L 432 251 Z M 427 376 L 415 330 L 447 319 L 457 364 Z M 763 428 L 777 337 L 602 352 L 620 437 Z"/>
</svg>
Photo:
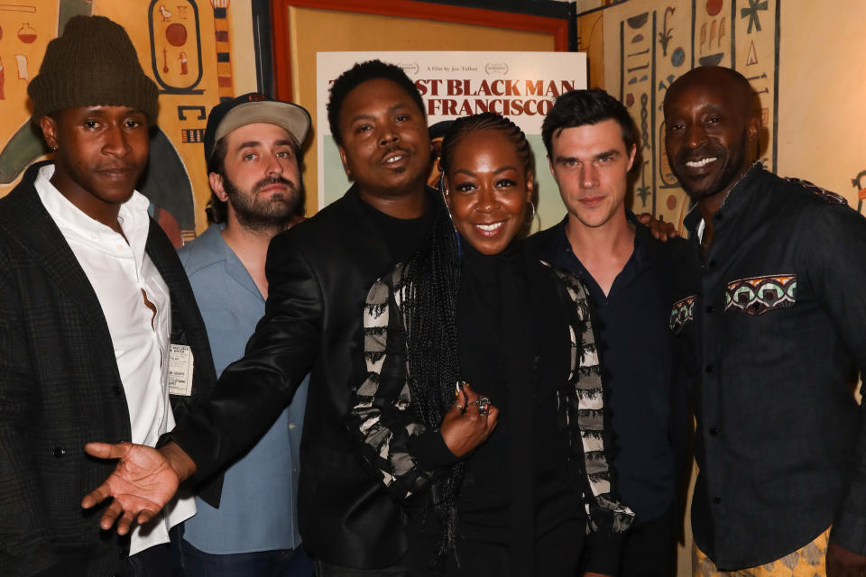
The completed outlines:
<svg viewBox="0 0 866 577">
<path fill-rule="evenodd" d="M 14 0 L 0 3 L 0 197 L 34 160 L 48 158 L 30 119 L 27 84 L 48 42 L 76 14 L 103 15 L 129 33 L 160 88 L 158 129 L 139 189 L 172 241 L 204 228 L 210 195 L 202 137 L 220 98 L 256 88 L 249 2 L 229 0 Z M 240 14 L 233 14 L 240 13 Z M 238 55 L 241 62 L 238 63 Z M 244 60 L 249 59 L 249 60 Z M 238 74 L 240 72 L 240 74 Z"/>
</svg>

